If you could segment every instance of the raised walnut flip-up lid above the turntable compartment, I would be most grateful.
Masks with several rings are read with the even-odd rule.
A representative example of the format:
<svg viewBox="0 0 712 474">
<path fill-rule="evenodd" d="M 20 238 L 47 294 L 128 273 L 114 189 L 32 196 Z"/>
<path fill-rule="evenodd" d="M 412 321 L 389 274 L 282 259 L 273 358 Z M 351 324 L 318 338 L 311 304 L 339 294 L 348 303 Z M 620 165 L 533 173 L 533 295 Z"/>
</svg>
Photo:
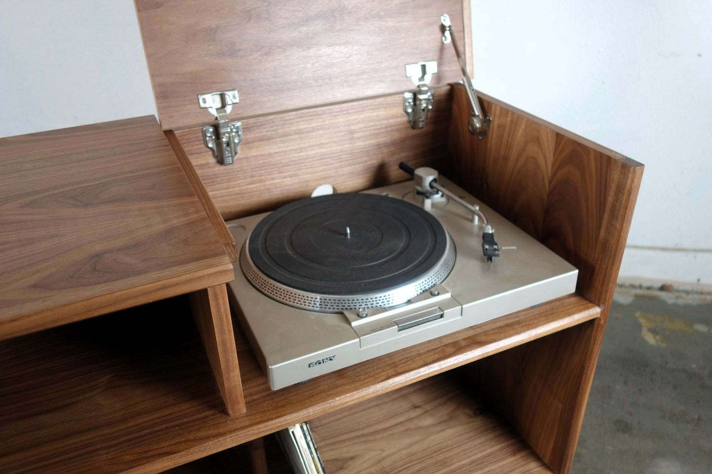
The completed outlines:
<svg viewBox="0 0 712 474">
<path fill-rule="evenodd" d="M 431 87 L 461 79 L 469 1 L 136 0 L 161 126 L 211 122 L 197 95 L 239 91 L 231 118 L 413 90 L 407 63 L 436 60 Z M 464 14 L 465 11 L 465 14 Z"/>
</svg>

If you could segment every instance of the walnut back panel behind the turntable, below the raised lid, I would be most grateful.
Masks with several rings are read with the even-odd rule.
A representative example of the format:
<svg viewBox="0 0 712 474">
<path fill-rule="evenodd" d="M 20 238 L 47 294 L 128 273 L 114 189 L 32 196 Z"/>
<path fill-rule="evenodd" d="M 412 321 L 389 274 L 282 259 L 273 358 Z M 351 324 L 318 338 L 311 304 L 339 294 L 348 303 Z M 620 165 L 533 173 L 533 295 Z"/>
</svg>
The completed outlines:
<svg viewBox="0 0 712 474">
<path fill-rule="evenodd" d="M 218 164 L 201 129 L 176 132 L 205 189 L 226 220 L 308 197 L 320 184 L 362 191 L 409 179 L 416 167 L 444 162 L 451 91 L 436 90 L 421 130 L 408 125 L 402 95 L 243 120 L 235 163 Z"/>
</svg>

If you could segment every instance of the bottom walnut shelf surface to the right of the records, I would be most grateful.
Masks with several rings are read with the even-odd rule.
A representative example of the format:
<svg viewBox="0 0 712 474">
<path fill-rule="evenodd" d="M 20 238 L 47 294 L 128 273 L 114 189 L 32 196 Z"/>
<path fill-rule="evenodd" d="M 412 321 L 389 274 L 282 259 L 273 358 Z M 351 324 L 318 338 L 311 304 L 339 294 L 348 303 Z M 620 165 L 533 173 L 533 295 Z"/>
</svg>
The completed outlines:
<svg viewBox="0 0 712 474">
<path fill-rule="evenodd" d="M 551 473 L 464 384 L 424 379 L 309 421 L 328 473 Z"/>
</svg>

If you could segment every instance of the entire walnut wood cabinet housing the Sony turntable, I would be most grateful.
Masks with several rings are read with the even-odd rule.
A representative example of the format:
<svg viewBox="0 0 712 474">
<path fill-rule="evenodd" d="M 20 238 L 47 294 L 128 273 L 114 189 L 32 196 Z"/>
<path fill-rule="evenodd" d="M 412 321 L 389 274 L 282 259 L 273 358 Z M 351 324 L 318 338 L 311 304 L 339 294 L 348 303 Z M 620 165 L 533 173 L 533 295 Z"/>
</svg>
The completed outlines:
<svg viewBox="0 0 712 474">
<path fill-rule="evenodd" d="M 169 110 L 162 120 L 167 139 L 155 122 L 137 119 L 0 140 L 0 470 L 157 473 L 313 420 L 330 472 L 385 466 L 384 458 L 404 459 L 402 472 L 430 465 L 443 472 L 567 472 L 642 165 L 487 97 L 493 122 L 478 140 L 467 132 L 464 90 L 446 85 L 456 80 L 449 78 L 436 87 L 423 130 L 407 125 L 399 83 L 366 97 L 361 85 L 344 97 L 323 90 L 326 98 L 284 102 L 289 107 L 280 110 L 274 107 L 283 90 L 263 96 L 264 113 L 250 105 L 236 115 L 244 143 L 236 164 L 221 166 L 203 147 L 197 102 L 184 122 L 180 117 L 188 107 L 183 98 L 229 84 L 203 82 L 206 90 L 164 95 L 163 88 L 184 85 L 159 73 L 168 66 L 156 62 L 160 49 L 150 39 L 177 34 L 161 18 L 172 9 L 191 15 L 197 3 L 137 2 L 159 113 L 162 100 Z M 468 18 L 469 3 L 455 4 L 459 18 Z M 288 16 L 296 5 L 265 18 L 257 7 L 233 14 L 251 21 L 249 34 L 265 33 L 255 25 L 279 15 L 298 18 L 294 24 L 329 23 L 305 16 L 302 6 Z M 433 7 L 434 21 L 446 7 Z M 382 16 L 393 12 L 378 9 L 356 19 L 375 19 L 373 31 L 386 34 Z M 198 33 L 188 36 L 221 38 L 239 56 L 224 30 L 196 24 Z M 348 36 L 330 43 L 322 33 L 309 48 L 348 44 Z M 197 43 L 188 42 L 184 56 L 194 58 L 190 44 Z M 249 60 L 278 55 L 265 48 L 265 56 Z M 451 65 L 443 71 L 456 75 Z M 114 128 L 123 130 L 119 142 Z M 67 133 L 78 149 L 62 142 Z M 53 153 L 30 152 L 44 140 Z M 157 151 L 139 149 L 146 144 Z M 439 169 L 575 265 L 577 293 L 271 391 L 226 310 L 224 283 L 236 249 L 222 219 L 274 209 L 324 182 L 359 191 L 402 181 L 402 159 Z M 93 186 L 99 177 L 106 185 Z M 43 211 L 28 223 L 37 209 Z M 98 230 L 85 232 L 93 225 Z M 95 237 L 93 252 L 65 250 L 87 236 Z M 123 252 L 112 253 L 117 248 Z M 75 291 L 79 286 L 88 290 Z M 357 430 L 355 421 L 362 423 Z"/>
</svg>

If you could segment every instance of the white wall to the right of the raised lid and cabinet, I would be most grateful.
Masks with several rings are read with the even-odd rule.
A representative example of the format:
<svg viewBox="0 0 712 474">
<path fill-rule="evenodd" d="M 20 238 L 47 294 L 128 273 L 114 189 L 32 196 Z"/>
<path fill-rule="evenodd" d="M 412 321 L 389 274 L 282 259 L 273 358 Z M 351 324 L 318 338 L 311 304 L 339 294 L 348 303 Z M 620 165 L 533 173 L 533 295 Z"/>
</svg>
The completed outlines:
<svg viewBox="0 0 712 474">
<path fill-rule="evenodd" d="M 622 277 L 712 283 L 712 2 L 473 0 L 475 87 L 646 165 Z"/>
</svg>

